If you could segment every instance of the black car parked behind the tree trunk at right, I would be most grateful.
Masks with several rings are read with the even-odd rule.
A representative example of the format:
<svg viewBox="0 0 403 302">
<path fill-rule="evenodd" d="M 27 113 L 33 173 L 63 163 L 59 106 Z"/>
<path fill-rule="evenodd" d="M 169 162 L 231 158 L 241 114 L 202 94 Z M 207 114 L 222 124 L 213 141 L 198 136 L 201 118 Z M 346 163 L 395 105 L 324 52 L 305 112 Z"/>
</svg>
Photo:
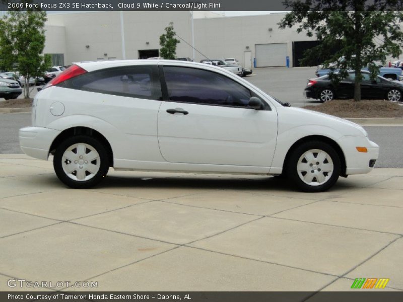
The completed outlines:
<svg viewBox="0 0 403 302">
<path fill-rule="evenodd" d="M 375 81 L 370 78 L 368 71 L 362 70 L 363 81 L 361 82 L 361 97 L 363 99 L 386 99 L 389 101 L 403 101 L 403 83 L 398 81 L 389 81 L 380 75 Z M 335 85 L 328 79 L 328 75 L 320 78 L 308 80 L 304 94 L 307 98 L 317 99 L 321 102 L 331 101 L 333 99 L 352 99 L 354 98 L 354 71 L 349 71 L 346 79 Z"/>
</svg>

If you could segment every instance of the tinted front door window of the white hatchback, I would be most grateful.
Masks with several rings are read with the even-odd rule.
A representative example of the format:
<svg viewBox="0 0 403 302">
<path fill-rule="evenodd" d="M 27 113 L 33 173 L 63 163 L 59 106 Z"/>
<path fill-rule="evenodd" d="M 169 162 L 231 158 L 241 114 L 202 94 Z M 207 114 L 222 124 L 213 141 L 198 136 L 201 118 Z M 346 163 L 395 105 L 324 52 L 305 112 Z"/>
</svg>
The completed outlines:
<svg viewBox="0 0 403 302">
<path fill-rule="evenodd" d="M 189 67 L 164 66 L 170 101 L 247 107 L 251 92 L 216 72 Z"/>
</svg>

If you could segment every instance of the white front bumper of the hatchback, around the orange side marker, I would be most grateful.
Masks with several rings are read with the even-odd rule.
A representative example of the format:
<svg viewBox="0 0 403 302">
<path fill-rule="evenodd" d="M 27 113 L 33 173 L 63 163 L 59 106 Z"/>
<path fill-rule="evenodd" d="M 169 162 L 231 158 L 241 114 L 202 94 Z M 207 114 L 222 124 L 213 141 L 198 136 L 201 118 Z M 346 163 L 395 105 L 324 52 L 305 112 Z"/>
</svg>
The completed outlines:
<svg viewBox="0 0 403 302">
<path fill-rule="evenodd" d="M 346 158 L 346 175 L 366 174 L 374 168 L 379 156 L 379 146 L 366 136 L 344 136 L 338 140 Z M 368 152 L 358 152 L 356 147 L 366 147 Z"/>
</svg>

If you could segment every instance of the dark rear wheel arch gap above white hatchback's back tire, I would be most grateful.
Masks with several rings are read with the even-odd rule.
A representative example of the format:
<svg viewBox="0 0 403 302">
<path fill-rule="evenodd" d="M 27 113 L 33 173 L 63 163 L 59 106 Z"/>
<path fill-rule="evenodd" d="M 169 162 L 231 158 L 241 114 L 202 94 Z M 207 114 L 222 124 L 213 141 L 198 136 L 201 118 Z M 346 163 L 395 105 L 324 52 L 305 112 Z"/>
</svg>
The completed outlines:
<svg viewBox="0 0 403 302">
<path fill-rule="evenodd" d="M 109 155 L 109 163 L 110 163 L 110 167 L 113 167 L 113 152 L 112 152 L 112 147 L 109 143 L 109 141 L 105 138 L 104 135 L 102 135 L 100 132 L 98 132 L 97 130 L 94 130 L 92 128 L 89 127 L 84 127 L 84 126 L 75 126 L 75 127 L 71 127 L 68 129 L 65 129 L 63 131 L 61 131 L 53 140 L 52 144 L 50 145 L 49 148 L 49 153 L 50 154 L 54 154 L 57 146 L 66 138 L 71 137 L 71 136 L 75 136 L 75 135 L 88 135 L 91 137 L 94 137 L 96 139 L 98 139 L 103 145 L 105 145 L 105 147 L 107 148 L 108 151 L 108 155 Z"/>
</svg>

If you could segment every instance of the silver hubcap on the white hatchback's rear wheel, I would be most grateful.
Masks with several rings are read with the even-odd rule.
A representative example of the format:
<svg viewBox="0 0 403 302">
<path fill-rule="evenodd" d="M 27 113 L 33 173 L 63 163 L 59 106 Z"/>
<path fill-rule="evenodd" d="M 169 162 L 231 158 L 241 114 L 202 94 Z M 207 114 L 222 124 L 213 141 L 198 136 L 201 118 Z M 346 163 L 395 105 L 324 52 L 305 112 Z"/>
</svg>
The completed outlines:
<svg viewBox="0 0 403 302">
<path fill-rule="evenodd" d="M 73 180 L 86 181 L 99 171 L 100 158 L 97 150 L 86 143 L 75 143 L 68 147 L 61 157 L 64 173 Z"/>
</svg>

